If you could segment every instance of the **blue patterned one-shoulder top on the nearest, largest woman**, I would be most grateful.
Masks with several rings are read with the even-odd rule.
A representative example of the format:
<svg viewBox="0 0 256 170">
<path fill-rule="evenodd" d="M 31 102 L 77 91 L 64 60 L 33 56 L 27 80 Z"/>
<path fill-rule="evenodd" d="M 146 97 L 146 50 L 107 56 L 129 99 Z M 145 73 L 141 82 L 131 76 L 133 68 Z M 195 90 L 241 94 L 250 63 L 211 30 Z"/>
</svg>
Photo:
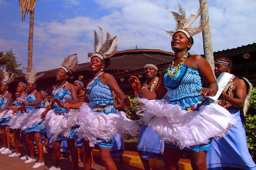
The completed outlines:
<svg viewBox="0 0 256 170">
<path fill-rule="evenodd" d="M 199 72 L 186 64 L 183 64 L 173 77 L 166 73 L 163 79 L 171 104 L 178 104 L 182 109 L 187 109 L 196 106 L 203 99 L 199 95 L 199 91 L 203 88 Z M 205 98 L 203 104 L 209 105 L 210 100 Z"/>
</svg>

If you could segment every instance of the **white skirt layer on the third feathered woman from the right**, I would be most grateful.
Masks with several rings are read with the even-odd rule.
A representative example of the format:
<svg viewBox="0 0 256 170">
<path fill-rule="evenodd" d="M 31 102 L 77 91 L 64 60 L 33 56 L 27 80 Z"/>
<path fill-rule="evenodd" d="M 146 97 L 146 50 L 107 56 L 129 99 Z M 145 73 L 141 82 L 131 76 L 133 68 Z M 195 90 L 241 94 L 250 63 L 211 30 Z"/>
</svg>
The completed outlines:
<svg viewBox="0 0 256 170">
<path fill-rule="evenodd" d="M 56 139 L 59 134 L 64 137 L 69 136 L 71 128 L 78 124 L 77 112 L 78 109 L 70 109 L 70 111 L 63 116 L 57 115 L 54 109 L 52 109 L 46 114 L 45 125 L 50 130 L 51 139 Z"/>
</svg>

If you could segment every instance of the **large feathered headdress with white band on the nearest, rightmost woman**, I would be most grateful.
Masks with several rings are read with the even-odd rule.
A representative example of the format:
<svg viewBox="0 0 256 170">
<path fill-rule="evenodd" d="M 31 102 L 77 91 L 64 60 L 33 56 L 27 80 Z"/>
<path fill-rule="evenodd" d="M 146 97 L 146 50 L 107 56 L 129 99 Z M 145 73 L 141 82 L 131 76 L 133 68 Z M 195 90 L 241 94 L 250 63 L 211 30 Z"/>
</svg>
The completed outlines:
<svg viewBox="0 0 256 170">
<path fill-rule="evenodd" d="M 179 13 L 171 11 L 172 15 L 174 16 L 174 19 L 176 21 L 176 28 L 175 31 L 166 31 L 170 36 L 173 36 L 176 32 L 182 32 L 184 33 L 188 39 L 190 40 L 190 43 L 194 43 L 193 37 L 197 33 L 200 33 L 203 31 L 206 23 L 203 24 L 202 19 L 200 18 L 199 26 L 198 27 L 191 27 L 191 25 L 194 24 L 197 18 L 200 17 L 205 3 L 199 8 L 198 11 L 195 11 L 194 14 L 191 14 L 188 18 L 186 16 L 186 11 L 180 6 L 179 4 Z"/>
</svg>

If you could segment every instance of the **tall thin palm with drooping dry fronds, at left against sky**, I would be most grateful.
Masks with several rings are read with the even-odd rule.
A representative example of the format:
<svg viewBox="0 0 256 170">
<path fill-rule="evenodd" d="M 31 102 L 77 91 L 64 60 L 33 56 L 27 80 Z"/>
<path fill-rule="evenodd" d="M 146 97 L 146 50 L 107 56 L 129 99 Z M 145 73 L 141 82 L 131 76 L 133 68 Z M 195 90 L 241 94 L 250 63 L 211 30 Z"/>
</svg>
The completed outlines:
<svg viewBox="0 0 256 170">
<path fill-rule="evenodd" d="M 19 0 L 21 20 L 25 20 L 26 13 L 30 13 L 29 36 L 28 36 L 28 67 L 32 67 L 33 56 L 33 35 L 34 35 L 34 15 L 37 0 Z"/>
</svg>

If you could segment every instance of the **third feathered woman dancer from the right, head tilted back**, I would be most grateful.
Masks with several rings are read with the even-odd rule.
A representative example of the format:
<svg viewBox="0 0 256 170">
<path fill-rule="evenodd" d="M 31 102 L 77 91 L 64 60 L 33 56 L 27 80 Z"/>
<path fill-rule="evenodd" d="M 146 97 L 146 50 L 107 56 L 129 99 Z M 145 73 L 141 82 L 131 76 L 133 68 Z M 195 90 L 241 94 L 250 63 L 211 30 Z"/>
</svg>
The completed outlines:
<svg viewBox="0 0 256 170">
<path fill-rule="evenodd" d="M 70 60 L 71 57 L 74 58 Z M 69 105 L 71 103 L 77 103 L 77 94 L 75 86 L 71 83 L 68 83 L 67 80 L 70 78 L 70 75 L 75 72 L 78 67 L 77 54 L 69 55 L 65 57 L 65 60 L 61 64 L 58 72 L 56 73 L 56 80 L 58 81 L 57 85 L 52 87 L 52 98 L 54 101 L 58 100 L 59 104 L 65 104 L 65 108 L 61 108 L 56 102 L 52 102 L 51 106 L 47 107 L 45 112 L 42 113 L 41 118 L 45 118 L 46 115 L 46 125 L 49 127 L 51 132 L 52 140 L 52 155 L 54 165 L 50 170 L 60 169 L 59 159 L 60 159 L 60 145 L 63 140 L 67 140 L 68 148 L 73 160 L 73 169 L 78 169 L 78 154 L 75 146 L 75 140 L 78 139 L 76 135 L 75 124 L 70 127 L 68 134 L 62 133 L 62 128 L 60 128 L 61 121 L 65 121 L 64 115 L 68 113 Z M 70 99 L 70 100 L 68 100 Z M 69 103 L 68 103 L 69 101 Z M 53 110 L 54 108 L 54 110 Z"/>
</svg>

